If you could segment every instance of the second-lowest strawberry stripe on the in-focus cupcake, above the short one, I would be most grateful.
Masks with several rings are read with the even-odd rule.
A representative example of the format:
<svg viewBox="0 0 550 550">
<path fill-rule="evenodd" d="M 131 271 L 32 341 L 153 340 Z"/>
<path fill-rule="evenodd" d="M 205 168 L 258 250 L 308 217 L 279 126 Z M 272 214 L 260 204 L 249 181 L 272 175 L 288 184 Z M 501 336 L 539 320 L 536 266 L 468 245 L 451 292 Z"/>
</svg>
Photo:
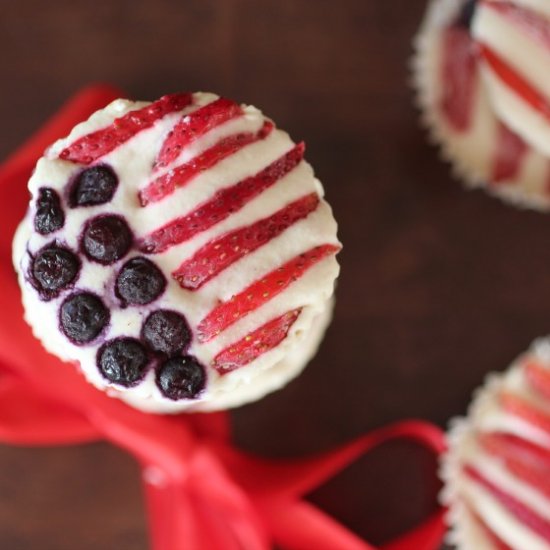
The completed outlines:
<svg viewBox="0 0 550 550">
<path fill-rule="evenodd" d="M 198 337 L 207 342 L 227 327 L 280 294 L 310 267 L 340 249 L 333 244 L 316 246 L 252 283 L 229 301 L 213 309 L 198 325 Z"/>
</svg>

